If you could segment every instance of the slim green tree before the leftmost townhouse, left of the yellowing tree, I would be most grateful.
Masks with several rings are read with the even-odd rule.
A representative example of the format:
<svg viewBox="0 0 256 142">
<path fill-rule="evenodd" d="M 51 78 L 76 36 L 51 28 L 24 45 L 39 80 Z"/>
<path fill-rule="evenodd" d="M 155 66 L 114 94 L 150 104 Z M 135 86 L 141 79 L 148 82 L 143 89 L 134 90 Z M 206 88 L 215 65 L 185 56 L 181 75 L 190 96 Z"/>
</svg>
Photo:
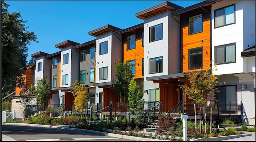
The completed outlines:
<svg viewBox="0 0 256 142">
<path fill-rule="evenodd" d="M 50 83 L 47 82 L 47 76 L 42 79 L 36 80 L 36 88 L 34 94 L 36 95 L 36 101 L 38 107 L 44 110 L 44 104 L 48 101 Z"/>
</svg>

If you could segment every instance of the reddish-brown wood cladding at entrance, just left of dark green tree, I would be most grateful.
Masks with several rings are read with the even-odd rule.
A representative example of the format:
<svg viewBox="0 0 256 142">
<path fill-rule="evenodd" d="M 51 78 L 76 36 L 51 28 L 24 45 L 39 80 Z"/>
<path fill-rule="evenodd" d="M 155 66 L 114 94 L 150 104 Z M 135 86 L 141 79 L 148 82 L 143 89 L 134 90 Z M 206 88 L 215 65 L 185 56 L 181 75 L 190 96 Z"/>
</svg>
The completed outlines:
<svg viewBox="0 0 256 142">
<path fill-rule="evenodd" d="M 112 104 L 119 102 L 119 98 L 116 97 L 113 89 L 103 88 L 102 101 L 103 101 L 103 108 L 104 108 L 104 107 L 109 106 L 110 101 L 112 101 Z M 104 112 L 106 112 L 106 111 L 104 111 Z M 112 112 L 114 112 L 113 107 L 112 107 Z"/>
</svg>

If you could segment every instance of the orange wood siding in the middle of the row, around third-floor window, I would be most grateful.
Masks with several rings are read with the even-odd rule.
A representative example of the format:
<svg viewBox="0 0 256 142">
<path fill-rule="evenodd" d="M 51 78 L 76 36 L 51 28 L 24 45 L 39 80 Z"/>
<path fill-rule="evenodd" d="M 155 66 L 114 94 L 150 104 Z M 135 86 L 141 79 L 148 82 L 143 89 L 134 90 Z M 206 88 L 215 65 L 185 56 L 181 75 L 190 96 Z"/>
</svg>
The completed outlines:
<svg viewBox="0 0 256 142">
<path fill-rule="evenodd" d="M 127 42 L 123 43 L 124 62 L 135 60 L 135 78 L 142 76 L 142 58 L 144 58 L 144 47 L 142 47 L 142 38 L 136 39 L 135 49 L 127 50 Z"/>
</svg>

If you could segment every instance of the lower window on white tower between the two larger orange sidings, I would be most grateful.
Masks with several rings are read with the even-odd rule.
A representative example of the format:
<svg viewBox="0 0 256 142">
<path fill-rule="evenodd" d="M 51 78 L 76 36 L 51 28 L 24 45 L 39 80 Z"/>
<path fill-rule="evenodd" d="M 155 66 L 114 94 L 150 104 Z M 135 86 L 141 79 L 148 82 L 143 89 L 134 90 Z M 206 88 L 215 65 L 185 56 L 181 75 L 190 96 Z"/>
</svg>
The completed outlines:
<svg viewBox="0 0 256 142">
<path fill-rule="evenodd" d="M 163 72 L 163 57 L 156 57 L 149 59 L 149 73 Z"/>
</svg>

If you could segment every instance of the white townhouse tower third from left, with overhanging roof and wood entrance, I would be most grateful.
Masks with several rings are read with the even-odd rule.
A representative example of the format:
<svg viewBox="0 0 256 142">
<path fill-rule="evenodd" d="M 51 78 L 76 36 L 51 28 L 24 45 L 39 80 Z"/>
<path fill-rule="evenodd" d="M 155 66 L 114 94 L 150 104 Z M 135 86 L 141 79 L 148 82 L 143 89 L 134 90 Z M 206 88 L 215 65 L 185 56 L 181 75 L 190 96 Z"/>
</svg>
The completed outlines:
<svg viewBox="0 0 256 142">
<path fill-rule="evenodd" d="M 103 107 L 109 106 L 109 102 L 119 102 L 112 87 L 114 67 L 118 60 L 122 60 L 122 37 L 115 36 L 114 32 L 120 28 L 105 25 L 89 31 L 89 35 L 96 37 L 96 94 L 102 96 Z"/>
</svg>

